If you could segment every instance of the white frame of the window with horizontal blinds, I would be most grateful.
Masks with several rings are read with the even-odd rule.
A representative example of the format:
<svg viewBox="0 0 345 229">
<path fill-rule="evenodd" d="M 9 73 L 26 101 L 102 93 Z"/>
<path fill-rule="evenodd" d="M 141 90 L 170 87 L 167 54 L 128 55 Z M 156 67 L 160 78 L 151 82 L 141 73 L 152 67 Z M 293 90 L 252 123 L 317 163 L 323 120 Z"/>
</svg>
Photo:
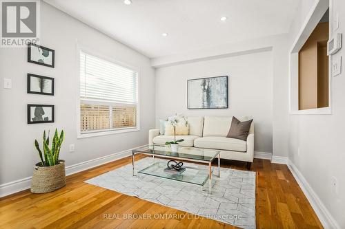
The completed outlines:
<svg viewBox="0 0 345 229">
<path fill-rule="evenodd" d="M 137 113 L 136 113 L 136 127 L 124 127 L 124 128 L 117 128 L 117 129 L 102 129 L 102 130 L 92 130 L 92 131 L 83 131 L 81 132 L 80 128 L 80 105 L 81 101 L 86 101 L 88 104 L 94 104 L 94 105 L 109 105 L 110 111 L 111 106 L 114 105 L 121 105 L 124 106 L 126 103 L 117 103 L 117 102 L 105 102 L 102 100 L 94 100 L 94 99 L 86 99 L 83 100 L 80 98 L 80 52 L 84 52 L 86 54 L 96 56 L 97 58 L 101 58 L 104 61 L 109 61 L 110 63 L 114 63 L 115 65 L 120 65 L 122 67 L 126 67 L 128 69 L 131 69 L 135 72 L 137 72 L 138 75 L 138 88 L 137 88 L 137 94 L 138 94 L 138 102 L 137 102 Z M 132 131 L 140 131 L 140 71 L 139 67 L 133 67 L 131 65 L 128 65 L 126 63 L 122 63 L 120 61 L 117 61 L 113 58 L 110 58 L 109 56 L 99 54 L 99 52 L 96 52 L 95 50 L 90 49 L 90 47 L 86 47 L 85 45 L 81 45 L 77 42 L 77 48 L 76 48 L 76 79 L 77 79 L 77 138 L 91 138 L 91 137 L 97 137 L 102 135 L 110 135 L 110 134 L 117 134 L 117 133 L 127 133 Z M 133 104 L 128 104 L 128 107 L 132 107 Z M 111 113 L 110 113 L 111 115 Z M 110 127 L 112 127 L 112 119 L 110 116 Z"/>
</svg>

